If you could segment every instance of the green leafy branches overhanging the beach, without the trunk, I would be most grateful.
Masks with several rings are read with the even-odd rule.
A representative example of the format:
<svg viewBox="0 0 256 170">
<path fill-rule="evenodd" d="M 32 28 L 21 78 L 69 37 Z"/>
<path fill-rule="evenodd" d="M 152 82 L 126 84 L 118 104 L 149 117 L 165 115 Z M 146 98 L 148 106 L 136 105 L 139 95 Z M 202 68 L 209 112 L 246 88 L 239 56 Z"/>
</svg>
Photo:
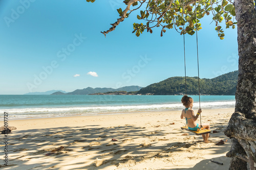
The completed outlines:
<svg viewBox="0 0 256 170">
<path fill-rule="evenodd" d="M 95 0 L 94 0 L 95 1 Z M 87 2 L 94 2 L 87 0 Z M 134 23 L 133 33 L 140 36 L 145 30 L 153 33 L 154 27 L 161 28 L 161 36 L 166 29 L 175 29 L 182 34 L 193 35 L 196 31 L 202 29 L 200 19 L 206 15 L 212 14 L 212 20 L 216 23 L 215 30 L 220 39 L 224 39 L 225 34 L 220 23 L 225 21 L 226 28 L 235 28 L 237 22 L 234 21 L 236 15 L 232 1 L 230 0 L 125 0 L 124 10 L 117 9 L 121 18 L 111 24 L 113 27 L 108 31 L 101 32 L 104 35 L 113 31 L 124 18 L 130 16 L 131 12 L 141 9 L 137 19 L 144 20 L 144 24 Z M 135 9 L 130 9 L 130 7 Z"/>
</svg>

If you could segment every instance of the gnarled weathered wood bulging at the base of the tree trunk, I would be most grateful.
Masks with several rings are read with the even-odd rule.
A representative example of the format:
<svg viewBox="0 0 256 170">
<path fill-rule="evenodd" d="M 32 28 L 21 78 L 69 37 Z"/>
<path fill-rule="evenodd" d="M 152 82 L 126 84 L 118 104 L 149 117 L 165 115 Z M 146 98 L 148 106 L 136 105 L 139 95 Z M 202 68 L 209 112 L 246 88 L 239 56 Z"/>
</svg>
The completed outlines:
<svg viewBox="0 0 256 170">
<path fill-rule="evenodd" d="M 249 163 L 250 169 L 256 169 L 256 121 L 245 118 L 240 112 L 234 112 L 224 133 L 231 138 L 232 143 L 237 143 L 231 146 L 226 156 L 242 159 Z"/>
</svg>

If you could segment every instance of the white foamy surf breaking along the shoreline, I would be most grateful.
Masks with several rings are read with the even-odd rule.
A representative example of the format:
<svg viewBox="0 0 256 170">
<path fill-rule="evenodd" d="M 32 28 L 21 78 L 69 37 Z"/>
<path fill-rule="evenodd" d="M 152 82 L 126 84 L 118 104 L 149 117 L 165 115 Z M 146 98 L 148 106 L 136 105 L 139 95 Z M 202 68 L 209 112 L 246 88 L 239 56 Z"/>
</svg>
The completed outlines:
<svg viewBox="0 0 256 170">
<path fill-rule="evenodd" d="M 202 109 L 233 108 L 235 101 L 201 102 Z M 182 110 L 181 103 L 153 104 L 153 105 L 130 105 L 130 106 L 94 106 L 94 107 L 61 107 L 61 108 L 20 108 L 0 109 L 7 112 L 9 117 L 51 117 L 67 115 L 91 115 L 98 113 L 125 113 L 136 111 L 166 111 Z M 194 109 L 199 108 L 199 103 L 194 103 Z M 3 116 L 0 116 L 2 118 Z"/>
</svg>

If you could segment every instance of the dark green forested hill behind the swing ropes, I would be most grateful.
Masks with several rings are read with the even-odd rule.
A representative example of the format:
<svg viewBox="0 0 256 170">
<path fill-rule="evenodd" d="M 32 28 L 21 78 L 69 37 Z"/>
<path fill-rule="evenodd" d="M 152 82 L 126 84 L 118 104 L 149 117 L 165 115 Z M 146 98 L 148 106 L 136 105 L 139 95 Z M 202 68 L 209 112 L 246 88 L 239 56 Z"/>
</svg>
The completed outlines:
<svg viewBox="0 0 256 170">
<path fill-rule="evenodd" d="M 198 94 L 198 77 L 186 77 L 187 94 Z M 232 71 L 213 79 L 200 79 L 200 93 L 206 95 L 234 95 L 237 88 L 238 71 Z M 185 77 L 171 77 L 138 91 L 138 94 L 154 95 L 185 94 Z"/>
</svg>

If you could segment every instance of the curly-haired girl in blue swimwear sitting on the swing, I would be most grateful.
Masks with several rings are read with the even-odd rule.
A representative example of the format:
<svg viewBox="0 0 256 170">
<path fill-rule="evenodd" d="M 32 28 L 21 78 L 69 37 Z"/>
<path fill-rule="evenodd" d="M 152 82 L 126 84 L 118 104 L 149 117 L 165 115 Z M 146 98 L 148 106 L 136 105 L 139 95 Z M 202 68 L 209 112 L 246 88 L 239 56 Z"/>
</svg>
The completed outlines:
<svg viewBox="0 0 256 170">
<path fill-rule="evenodd" d="M 197 114 L 194 114 L 194 110 L 192 110 L 193 108 L 193 99 L 190 98 L 187 95 L 184 95 L 181 99 L 181 103 L 183 104 L 183 106 L 185 106 L 185 109 L 182 110 L 180 118 L 186 119 L 186 124 L 188 126 L 189 130 L 193 130 L 193 131 L 197 131 L 200 127 L 198 124 L 196 124 L 196 120 L 199 117 L 200 113 L 202 113 L 201 109 L 198 109 Z M 205 129 L 210 130 L 210 125 L 209 124 L 202 124 L 202 127 Z M 209 138 L 209 133 L 207 134 L 202 134 L 203 136 L 203 140 L 205 143 L 208 143 L 208 138 Z"/>
</svg>

